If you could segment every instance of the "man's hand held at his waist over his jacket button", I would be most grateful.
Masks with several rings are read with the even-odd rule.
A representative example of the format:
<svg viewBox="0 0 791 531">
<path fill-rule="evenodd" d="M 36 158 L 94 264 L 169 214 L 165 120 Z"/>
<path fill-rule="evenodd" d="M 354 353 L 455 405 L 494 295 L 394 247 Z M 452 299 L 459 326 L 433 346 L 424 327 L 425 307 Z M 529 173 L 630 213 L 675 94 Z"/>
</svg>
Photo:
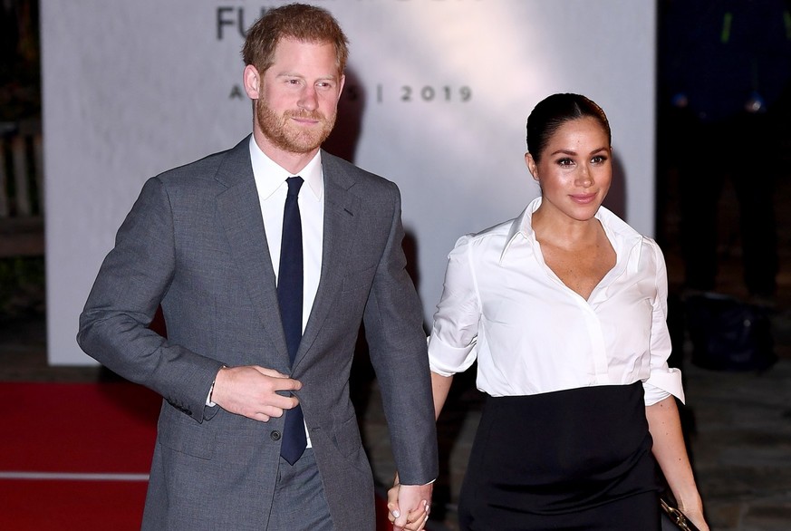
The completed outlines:
<svg viewBox="0 0 791 531">
<path fill-rule="evenodd" d="M 299 404 L 295 396 L 277 391 L 299 391 L 302 383 L 257 365 L 223 367 L 217 372 L 211 401 L 224 410 L 266 422 Z"/>
</svg>

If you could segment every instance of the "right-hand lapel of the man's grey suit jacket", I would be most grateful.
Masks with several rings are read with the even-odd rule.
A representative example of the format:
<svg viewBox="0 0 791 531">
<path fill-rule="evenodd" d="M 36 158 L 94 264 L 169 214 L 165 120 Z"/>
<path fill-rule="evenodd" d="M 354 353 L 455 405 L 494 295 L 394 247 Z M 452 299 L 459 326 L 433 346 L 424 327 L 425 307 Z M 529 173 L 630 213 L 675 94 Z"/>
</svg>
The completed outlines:
<svg viewBox="0 0 791 531">
<path fill-rule="evenodd" d="M 314 307 L 305 326 L 294 366 L 304 357 L 315 343 L 324 320 L 333 310 L 338 291 L 343 285 L 346 257 L 352 246 L 354 214 L 359 208 L 360 199 L 349 192 L 354 181 L 326 153 L 322 154 L 324 177 L 324 228 L 322 246 L 322 274 L 316 292 Z M 337 308 L 334 308 L 338 311 Z"/>
</svg>

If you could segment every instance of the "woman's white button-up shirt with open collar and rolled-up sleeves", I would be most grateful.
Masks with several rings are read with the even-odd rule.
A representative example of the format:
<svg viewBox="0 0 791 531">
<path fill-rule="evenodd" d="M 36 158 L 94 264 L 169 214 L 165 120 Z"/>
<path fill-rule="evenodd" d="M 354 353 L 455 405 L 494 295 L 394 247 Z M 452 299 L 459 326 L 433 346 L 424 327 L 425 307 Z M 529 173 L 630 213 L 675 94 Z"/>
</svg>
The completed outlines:
<svg viewBox="0 0 791 531">
<path fill-rule="evenodd" d="M 540 205 L 458 239 L 429 337 L 431 371 L 450 376 L 477 359 L 477 388 L 496 397 L 642 381 L 646 405 L 683 401 L 680 371 L 667 364 L 660 247 L 599 208 L 617 261 L 585 300 L 545 264 L 531 225 Z"/>
</svg>

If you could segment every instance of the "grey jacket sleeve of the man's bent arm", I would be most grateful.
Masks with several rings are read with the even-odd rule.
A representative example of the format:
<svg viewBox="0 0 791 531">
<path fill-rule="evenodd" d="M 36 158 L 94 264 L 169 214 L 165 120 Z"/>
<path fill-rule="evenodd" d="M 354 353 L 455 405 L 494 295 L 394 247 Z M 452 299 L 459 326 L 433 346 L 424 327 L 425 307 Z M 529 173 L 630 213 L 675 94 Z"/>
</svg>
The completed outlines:
<svg viewBox="0 0 791 531">
<path fill-rule="evenodd" d="M 171 344 L 149 324 L 176 266 L 168 191 L 150 179 L 118 231 L 80 316 L 82 350 L 111 371 L 159 392 L 195 420 L 221 362 Z"/>
</svg>

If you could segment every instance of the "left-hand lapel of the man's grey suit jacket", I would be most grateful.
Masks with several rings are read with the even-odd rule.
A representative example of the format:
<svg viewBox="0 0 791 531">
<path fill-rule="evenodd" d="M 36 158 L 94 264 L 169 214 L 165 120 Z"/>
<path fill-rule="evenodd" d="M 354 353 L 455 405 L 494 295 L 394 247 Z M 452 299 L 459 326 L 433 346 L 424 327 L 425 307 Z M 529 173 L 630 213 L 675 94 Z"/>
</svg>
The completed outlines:
<svg viewBox="0 0 791 531">
<path fill-rule="evenodd" d="M 266 245 L 264 220 L 250 162 L 248 136 L 228 152 L 216 179 L 227 188 L 217 195 L 217 219 L 239 266 L 253 306 L 272 343 L 288 362 L 283 324 L 277 304 L 275 270 Z"/>
</svg>

